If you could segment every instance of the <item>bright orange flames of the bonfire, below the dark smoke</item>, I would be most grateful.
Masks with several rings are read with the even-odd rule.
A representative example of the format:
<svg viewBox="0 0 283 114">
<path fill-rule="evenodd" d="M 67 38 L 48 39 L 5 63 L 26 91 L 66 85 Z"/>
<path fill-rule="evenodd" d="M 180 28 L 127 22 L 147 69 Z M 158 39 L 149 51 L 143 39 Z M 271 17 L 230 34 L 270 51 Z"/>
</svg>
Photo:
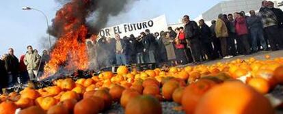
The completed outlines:
<svg viewBox="0 0 283 114">
<path fill-rule="evenodd" d="M 87 69 L 86 33 L 86 27 L 81 25 L 77 31 L 70 31 L 62 38 L 59 38 L 51 53 L 51 61 L 44 67 L 42 79 L 55 74 L 60 66 L 64 66 L 64 63 L 68 63 L 64 67 L 68 70 L 75 70 L 76 68 L 79 70 Z M 80 41 L 77 40 L 78 38 L 80 38 Z"/>
</svg>

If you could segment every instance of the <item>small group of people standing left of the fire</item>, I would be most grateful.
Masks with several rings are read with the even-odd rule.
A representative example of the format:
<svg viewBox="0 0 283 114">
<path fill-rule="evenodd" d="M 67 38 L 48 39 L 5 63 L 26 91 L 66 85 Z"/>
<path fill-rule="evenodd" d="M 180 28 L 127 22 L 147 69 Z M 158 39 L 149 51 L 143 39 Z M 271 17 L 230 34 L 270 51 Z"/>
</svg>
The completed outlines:
<svg viewBox="0 0 283 114">
<path fill-rule="evenodd" d="M 14 55 L 14 49 L 9 48 L 8 54 L 0 58 L 0 88 L 36 80 L 43 73 L 43 66 L 49 59 L 48 51 L 44 50 L 40 56 L 36 49 L 27 46 L 27 53 L 21 55 L 19 60 Z"/>
</svg>

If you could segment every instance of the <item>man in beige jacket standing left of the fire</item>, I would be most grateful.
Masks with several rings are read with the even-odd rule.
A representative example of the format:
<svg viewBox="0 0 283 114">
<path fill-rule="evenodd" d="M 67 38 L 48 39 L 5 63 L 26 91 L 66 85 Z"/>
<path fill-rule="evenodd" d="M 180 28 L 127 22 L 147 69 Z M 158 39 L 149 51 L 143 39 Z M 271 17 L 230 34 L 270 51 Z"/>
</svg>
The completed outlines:
<svg viewBox="0 0 283 114">
<path fill-rule="evenodd" d="M 27 54 L 25 54 L 24 62 L 29 73 L 29 80 L 34 80 L 38 74 L 37 68 L 40 63 L 40 56 L 33 52 L 32 46 L 27 46 Z"/>
</svg>

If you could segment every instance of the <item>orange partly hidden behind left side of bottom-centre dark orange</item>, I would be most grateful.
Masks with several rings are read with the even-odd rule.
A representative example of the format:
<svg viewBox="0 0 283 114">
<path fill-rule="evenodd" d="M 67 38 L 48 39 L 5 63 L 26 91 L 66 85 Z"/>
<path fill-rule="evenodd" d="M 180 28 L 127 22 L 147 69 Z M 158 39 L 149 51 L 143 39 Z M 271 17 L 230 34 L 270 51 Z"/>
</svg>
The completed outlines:
<svg viewBox="0 0 283 114">
<path fill-rule="evenodd" d="M 123 91 L 122 93 L 122 97 L 121 97 L 121 100 L 120 100 L 120 104 L 123 106 L 123 107 L 126 107 L 126 104 L 128 104 L 128 102 L 130 100 L 132 100 L 133 98 L 139 96 L 140 94 L 135 91 L 135 90 L 132 90 L 132 89 L 126 89 Z"/>
</svg>

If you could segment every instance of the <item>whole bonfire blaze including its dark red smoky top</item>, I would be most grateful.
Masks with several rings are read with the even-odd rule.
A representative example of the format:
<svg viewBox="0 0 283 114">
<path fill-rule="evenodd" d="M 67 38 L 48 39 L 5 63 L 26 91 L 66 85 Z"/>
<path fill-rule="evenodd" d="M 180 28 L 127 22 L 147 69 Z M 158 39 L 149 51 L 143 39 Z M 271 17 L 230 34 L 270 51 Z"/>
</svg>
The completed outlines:
<svg viewBox="0 0 283 114">
<path fill-rule="evenodd" d="M 53 31 L 58 40 L 51 51 L 51 60 L 44 67 L 45 79 L 58 72 L 66 70 L 86 70 L 88 66 L 85 39 L 87 27 L 87 3 L 89 0 L 73 0 L 60 9 L 53 20 Z"/>
</svg>

